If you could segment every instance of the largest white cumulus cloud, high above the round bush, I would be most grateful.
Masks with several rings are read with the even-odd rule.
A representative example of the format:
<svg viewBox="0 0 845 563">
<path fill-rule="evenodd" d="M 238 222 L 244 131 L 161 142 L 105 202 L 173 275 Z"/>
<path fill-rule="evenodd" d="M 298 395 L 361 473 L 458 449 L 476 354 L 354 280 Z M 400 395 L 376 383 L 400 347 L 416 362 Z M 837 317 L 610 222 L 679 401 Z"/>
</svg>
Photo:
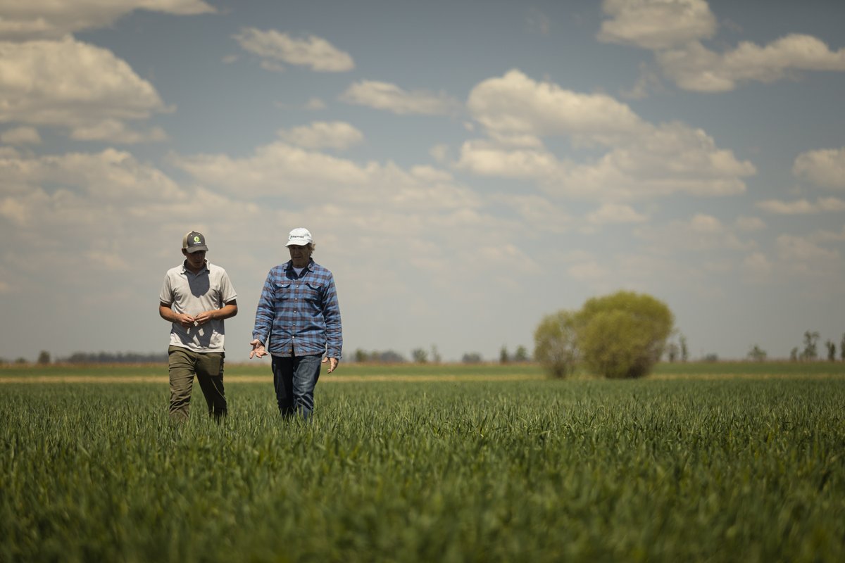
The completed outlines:
<svg viewBox="0 0 845 563">
<path fill-rule="evenodd" d="M 675 192 L 733 195 L 744 192 L 744 176 L 756 172 L 701 129 L 651 124 L 608 95 L 571 92 L 520 71 L 484 80 L 467 106 L 489 138 L 463 143 L 455 166 L 531 179 L 553 194 L 606 201 Z M 552 137 L 586 144 L 597 156 L 578 162 L 559 156 L 543 146 Z"/>
</svg>

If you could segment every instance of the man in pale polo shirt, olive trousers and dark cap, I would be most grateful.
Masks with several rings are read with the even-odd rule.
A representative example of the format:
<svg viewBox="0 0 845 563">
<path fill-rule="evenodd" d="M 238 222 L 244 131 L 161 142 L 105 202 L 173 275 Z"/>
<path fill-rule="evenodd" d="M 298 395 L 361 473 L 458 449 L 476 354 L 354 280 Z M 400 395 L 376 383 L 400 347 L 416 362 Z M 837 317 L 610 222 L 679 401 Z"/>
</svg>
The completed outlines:
<svg viewBox="0 0 845 563">
<path fill-rule="evenodd" d="M 223 319 L 237 315 L 237 294 L 226 270 L 205 261 L 205 237 L 191 231 L 182 239 L 182 264 L 167 270 L 159 295 L 159 315 L 171 322 L 170 416 L 188 420 L 194 376 L 209 414 L 226 414 L 223 390 Z"/>
</svg>

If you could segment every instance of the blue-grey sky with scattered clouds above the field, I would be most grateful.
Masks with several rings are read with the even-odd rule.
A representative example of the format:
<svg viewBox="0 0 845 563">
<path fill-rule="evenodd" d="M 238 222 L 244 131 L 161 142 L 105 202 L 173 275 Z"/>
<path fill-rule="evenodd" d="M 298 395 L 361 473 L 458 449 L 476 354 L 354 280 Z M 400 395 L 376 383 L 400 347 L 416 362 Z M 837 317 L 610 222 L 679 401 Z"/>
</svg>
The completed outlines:
<svg viewBox="0 0 845 563">
<path fill-rule="evenodd" d="M 306 227 L 344 355 L 662 300 L 690 359 L 845 334 L 845 3 L 0 0 L 0 357 L 159 353 L 199 230 L 246 361 Z M 257 361 L 257 360 L 254 360 Z"/>
</svg>

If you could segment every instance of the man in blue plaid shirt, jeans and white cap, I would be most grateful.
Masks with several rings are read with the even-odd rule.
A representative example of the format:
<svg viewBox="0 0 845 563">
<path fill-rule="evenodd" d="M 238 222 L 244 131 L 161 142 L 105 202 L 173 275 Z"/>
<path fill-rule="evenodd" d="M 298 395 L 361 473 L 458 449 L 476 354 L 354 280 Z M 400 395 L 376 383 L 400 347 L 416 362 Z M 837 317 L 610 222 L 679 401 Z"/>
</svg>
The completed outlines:
<svg viewBox="0 0 845 563">
<path fill-rule="evenodd" d="M 308 420 L 320 364 L 328 362 L 331 373 L 341 360 L 341 308 L 334 276 L 311 258 L 311 233 L 292 230 L 286 246 L 291 260 L 271 269 L 261 290 L 249 359 L 273 356 L 279 411 Z"/>
</svg>

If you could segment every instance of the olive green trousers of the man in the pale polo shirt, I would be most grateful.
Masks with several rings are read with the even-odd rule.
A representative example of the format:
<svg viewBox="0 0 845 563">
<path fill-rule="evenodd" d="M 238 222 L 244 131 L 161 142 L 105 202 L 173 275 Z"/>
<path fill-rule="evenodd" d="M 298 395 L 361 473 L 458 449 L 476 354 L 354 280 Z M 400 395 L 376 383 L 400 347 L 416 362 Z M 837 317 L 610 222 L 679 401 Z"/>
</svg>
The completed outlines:
<svg viewBox="0 0 845 563">
<path fill-rule="evenodd" d="M 170 418 L 188 420 L 194 376 L 203 390 L 209 414 L 220 419 L 226 414 L 226 395 L 223 390 L 223 359 L 225 354 L 200 354 L 187 348 L 171 346 L 167 349 L 170 370 Z"/>
</svg>

